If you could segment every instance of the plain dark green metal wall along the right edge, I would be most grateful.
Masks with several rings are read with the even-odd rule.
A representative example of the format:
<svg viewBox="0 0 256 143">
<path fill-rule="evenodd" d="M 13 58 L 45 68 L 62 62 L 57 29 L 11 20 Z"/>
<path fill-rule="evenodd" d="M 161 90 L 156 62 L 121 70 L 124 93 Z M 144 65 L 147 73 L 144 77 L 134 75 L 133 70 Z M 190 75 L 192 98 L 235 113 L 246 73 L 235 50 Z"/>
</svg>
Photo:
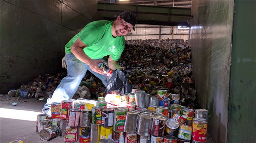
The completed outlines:
<svg viewBox="0 0 256 143">
<path fill-rule="evenodd" d="M 229 143 L 256 142 L 256 1 L 235 0 Z"/>
</svg>

